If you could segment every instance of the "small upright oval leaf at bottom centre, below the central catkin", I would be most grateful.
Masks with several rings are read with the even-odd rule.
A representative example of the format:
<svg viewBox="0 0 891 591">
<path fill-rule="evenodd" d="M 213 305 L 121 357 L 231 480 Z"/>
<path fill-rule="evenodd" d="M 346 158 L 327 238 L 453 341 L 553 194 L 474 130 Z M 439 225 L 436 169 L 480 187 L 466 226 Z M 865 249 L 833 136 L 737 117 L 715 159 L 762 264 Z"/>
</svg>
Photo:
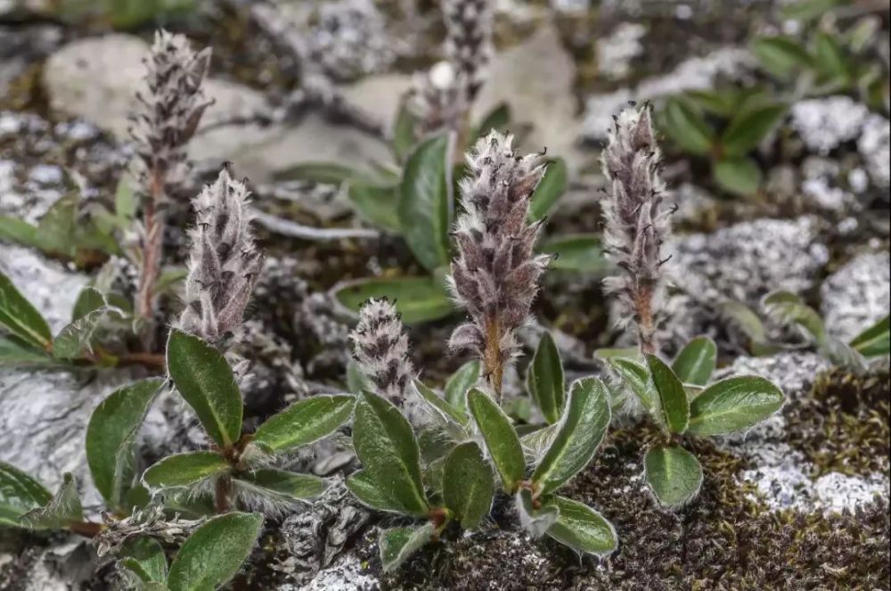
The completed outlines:
<svg viewBox="0 0 891 591">
<path fill-rule="evenodd" d="M 494 495 L 492 468 L 477 444 L 469 441 L 455 447 L 443 472 L 443 500 L 463 529 L 473 529 L 486 518 Z"/>
</svg>

